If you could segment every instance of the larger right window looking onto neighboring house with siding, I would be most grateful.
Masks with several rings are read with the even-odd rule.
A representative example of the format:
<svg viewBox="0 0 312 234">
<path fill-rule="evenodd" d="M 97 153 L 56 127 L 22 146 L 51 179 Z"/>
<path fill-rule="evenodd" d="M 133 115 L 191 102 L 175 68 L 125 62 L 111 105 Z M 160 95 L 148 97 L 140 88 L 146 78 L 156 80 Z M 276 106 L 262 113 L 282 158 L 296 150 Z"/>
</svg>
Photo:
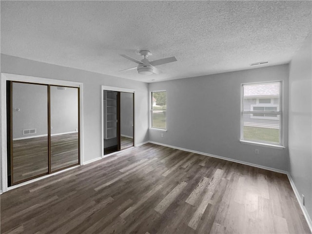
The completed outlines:
<svg viewBox="0 0 312 234">
<path fill-rule="evenodd" d="M 282 145 L 281 81 L 242 84 L 241 140 Z"/>
</svg>

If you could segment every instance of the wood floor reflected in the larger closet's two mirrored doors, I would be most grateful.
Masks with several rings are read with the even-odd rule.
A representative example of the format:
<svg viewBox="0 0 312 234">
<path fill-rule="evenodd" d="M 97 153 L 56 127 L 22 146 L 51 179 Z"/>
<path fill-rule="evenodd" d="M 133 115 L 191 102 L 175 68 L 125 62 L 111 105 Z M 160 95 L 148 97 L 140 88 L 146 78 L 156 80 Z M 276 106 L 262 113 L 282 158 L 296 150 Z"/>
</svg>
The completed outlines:
<svg viewBox="0 0 312 234">
<path fill-rule="evenodd" d="M 78 133 L 51 136 L 51 170 L 78 164 Z M 13 140 L 13 179 L 48 173 L 48 137 Z"/>
</svg>

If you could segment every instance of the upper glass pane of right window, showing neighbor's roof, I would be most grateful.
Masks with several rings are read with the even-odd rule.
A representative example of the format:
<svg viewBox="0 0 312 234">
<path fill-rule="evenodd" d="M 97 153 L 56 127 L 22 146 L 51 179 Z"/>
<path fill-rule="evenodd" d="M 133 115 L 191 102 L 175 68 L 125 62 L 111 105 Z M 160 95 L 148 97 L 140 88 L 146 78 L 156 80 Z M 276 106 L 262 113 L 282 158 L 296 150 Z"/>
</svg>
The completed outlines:
<svg viewBox="0 0 312 234">
<path fill-rule="evenodd" d="M 251 111 L 251 106 L 257 105 L 258 103 L 271 103 L 280 109 L 280 82 L 269 84 L 245 84 L 243 86 L 243 92 L 244 111 Z"/>
</svg>

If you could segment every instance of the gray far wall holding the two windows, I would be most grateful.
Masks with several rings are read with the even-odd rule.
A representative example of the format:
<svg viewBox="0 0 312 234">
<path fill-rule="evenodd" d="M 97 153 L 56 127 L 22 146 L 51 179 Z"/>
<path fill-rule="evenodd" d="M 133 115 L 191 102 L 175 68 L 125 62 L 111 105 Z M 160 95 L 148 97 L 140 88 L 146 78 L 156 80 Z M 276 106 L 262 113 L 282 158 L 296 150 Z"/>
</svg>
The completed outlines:
<svg viewBox="0 0 312 234">
<path fill-rule="evenodd" d="M 288 65 L 151 83 L 167 90 L 167 132 L 150 129 L 151 141 L 288 170 Z M 242 144 L 241 83 L 283 80 L 284 145 L 273 149 Z M 259 155 L 255 154 L 259 149 Z"/>
</svg>

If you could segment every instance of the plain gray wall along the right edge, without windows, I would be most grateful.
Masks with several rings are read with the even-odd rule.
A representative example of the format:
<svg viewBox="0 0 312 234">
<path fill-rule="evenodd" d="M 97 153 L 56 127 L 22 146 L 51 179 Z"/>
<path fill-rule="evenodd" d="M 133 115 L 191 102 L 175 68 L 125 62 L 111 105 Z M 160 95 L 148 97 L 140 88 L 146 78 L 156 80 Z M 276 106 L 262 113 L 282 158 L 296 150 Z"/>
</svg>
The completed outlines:
<svg viewBox="0 0 312 234">
<path fill-rule="evenodd" d="M 312 55 L 311 35 L 290 63 L 290 174 L 312 218 Z"/>
</svg>

